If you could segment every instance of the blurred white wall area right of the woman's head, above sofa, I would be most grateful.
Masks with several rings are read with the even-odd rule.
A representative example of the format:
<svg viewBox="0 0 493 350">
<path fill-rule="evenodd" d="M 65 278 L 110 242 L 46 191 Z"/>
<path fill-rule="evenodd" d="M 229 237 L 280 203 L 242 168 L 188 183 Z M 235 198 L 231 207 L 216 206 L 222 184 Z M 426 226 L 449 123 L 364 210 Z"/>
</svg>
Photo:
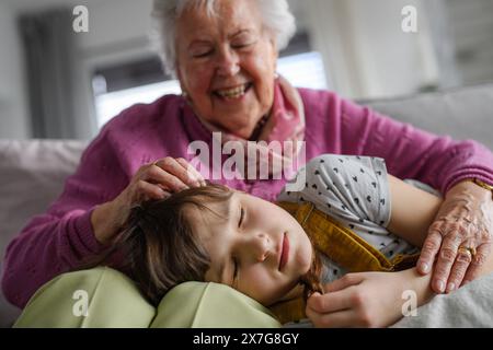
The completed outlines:
<svg viewBox="0 0 493 350">
<path fill-rule="evenodd" d="M 307 27 L 325 60 L 331 85 L 351 98 L 415 92 L 437 79 L 421 0 L 307 0 Z M 401 30 L 404 5 L 415 5 L 419 33 Z"/>
</svg>

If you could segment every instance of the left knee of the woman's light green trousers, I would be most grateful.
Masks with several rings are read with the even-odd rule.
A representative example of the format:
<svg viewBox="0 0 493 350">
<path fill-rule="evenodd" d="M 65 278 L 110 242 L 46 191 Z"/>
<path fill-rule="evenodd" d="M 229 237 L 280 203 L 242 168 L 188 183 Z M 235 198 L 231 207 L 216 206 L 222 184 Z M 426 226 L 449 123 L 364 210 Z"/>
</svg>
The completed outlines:
<svg viewBox="0 0 493 350">
<path fill-rule="evenodd" d="M 77 291 L 85 291 L 89 296 L 87 317 L 77 313 L 81 301 L 73 299 Z M 14 327 L 147 327 L 154 315 L 154 307 L 129 278 L 98 267 L 64 273 L 43 285 Z"/>
</svg>

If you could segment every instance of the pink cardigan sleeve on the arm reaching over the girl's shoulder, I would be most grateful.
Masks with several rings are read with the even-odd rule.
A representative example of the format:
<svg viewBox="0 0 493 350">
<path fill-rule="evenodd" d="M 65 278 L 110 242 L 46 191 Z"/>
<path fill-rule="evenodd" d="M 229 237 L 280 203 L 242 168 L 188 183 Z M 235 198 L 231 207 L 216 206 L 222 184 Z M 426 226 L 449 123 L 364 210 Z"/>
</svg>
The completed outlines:
<svg viewBox="0 0 493 350">
<path fill-rule="evenodd" d="M 390 174 L 443 194 L 471 177 L 493 184 L 493 154 L 477 141 L 439 137 L 349 101 L 340 109 L 343 152 L 383 158 Z"/>
</svg>

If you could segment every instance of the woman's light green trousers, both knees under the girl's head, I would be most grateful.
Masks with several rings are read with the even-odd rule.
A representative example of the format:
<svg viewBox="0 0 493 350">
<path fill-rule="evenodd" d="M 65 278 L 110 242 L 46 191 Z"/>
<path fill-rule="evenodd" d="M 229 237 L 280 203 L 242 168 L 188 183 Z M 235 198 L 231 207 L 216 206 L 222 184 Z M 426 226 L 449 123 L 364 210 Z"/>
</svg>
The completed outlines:
<svg viewBox="0 0 493 350">
<path fill-rule="evenodd" d="M 80 294 L 88 295 L 88 315 L 80 315 Z M 156 310 L 125 275 L 107 268 L 64 273 L 30 300 L 14 327 L 279 327 L 267 308 L 217 283 L 175 287 Z"/>
</svg>

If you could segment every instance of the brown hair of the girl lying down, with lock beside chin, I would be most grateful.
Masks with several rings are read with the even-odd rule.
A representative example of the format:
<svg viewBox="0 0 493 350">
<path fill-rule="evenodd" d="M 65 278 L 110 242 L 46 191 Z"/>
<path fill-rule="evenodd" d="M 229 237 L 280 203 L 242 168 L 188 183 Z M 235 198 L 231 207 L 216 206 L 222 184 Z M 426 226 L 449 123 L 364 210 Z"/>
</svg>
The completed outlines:
<svg viewBox="0 0 493 350">
<path fill-rule="evenodd" d="M 232 194 L 226 186 L 208 184 L 136 206 L 111 250 L 88 266 L 108 262 L 114 253 L 122 254 L 123 268 L 157 306 L 173 287 L 204 281 L 210 267 L 209 256 L 191 225 L 190 206 L 221 217 L 207 205 L 228 201 Z M 314 291 L 321 292 L 320 272 L 321 261 L 314 250 L 310 270 L 300 278 L 305 298 Z"/>
</svg>

